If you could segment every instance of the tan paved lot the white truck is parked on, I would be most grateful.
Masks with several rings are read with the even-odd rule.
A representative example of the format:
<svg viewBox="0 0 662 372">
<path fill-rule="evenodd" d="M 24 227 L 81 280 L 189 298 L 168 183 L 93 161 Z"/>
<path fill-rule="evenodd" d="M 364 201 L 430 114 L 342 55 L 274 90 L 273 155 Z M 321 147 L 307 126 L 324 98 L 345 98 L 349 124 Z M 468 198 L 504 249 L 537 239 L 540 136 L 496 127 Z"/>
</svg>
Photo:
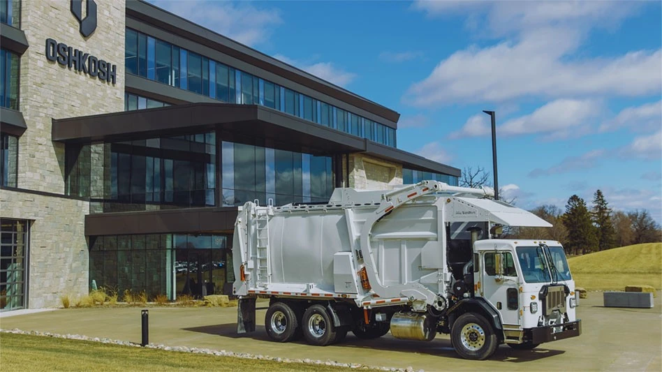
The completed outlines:
<svg viewBox="0 0 662 372">
<path fill-rule="evenodd" d="M 310 358 L 373 366 L 442 370 L 526 371 L 662 371 L 662 307 L 660 295 L 650 309 L 604 308 L 602 294 L 589 293 L 579 310 L 583 334 L 536 350 L 517 351 L 501 345 L 490 360 L 474 362 L 457 357 L 448 336 L 434 341 L 402 341 L 387 335 L 361 341 L 348 334 L 339 345 L 319 348 L 269 341 L 258 311 L 258 331 L 238 335 L 236 308 L 150 308 L 149 341 L 250 352 L 272 357 Z M 258 305 L 259 306 L 259 305 Z M 62 309 L 17 315 L 0 320 L 3 329 L 84 334 L 140 342 L 140 308 Z"/>
</svg>

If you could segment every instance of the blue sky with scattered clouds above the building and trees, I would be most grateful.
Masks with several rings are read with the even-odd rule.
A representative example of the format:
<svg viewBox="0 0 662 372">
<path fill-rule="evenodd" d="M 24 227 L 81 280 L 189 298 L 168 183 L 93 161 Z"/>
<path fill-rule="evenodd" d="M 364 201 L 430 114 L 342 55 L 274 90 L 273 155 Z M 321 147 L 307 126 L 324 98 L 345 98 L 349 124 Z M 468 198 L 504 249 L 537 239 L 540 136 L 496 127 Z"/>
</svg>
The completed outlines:
<svg viewBox="0 0 662 372">
<path fill-rule="evenodd" d="M 402 116 L 398 147 L 492 169 L 516 204 L 662 221 L 659 1 L 154 1 Z"/>
</svg>

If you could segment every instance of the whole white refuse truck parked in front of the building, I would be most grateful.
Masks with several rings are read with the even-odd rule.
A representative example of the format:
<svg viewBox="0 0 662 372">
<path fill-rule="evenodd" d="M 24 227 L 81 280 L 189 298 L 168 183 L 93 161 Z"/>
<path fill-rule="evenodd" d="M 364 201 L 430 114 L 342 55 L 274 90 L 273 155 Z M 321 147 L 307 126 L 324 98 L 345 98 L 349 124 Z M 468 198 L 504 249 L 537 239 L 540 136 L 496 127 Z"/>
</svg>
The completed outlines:
<svg viewBox="0 0 662 372">
<path fill-rule="evenodd" d="M 247 202 L 235 223 L 237 331 L 268 297 L 273 341 L 311 345 L 387 334 L 450 334 L 466 359 L 581 334 L 575 283 L 558 241 L 495 239 L 506 226 L 549 227 L 492 200 L 489 188 L 422 181 L 390 191 L 336 188 L 329 202 Z"/>
</svg>

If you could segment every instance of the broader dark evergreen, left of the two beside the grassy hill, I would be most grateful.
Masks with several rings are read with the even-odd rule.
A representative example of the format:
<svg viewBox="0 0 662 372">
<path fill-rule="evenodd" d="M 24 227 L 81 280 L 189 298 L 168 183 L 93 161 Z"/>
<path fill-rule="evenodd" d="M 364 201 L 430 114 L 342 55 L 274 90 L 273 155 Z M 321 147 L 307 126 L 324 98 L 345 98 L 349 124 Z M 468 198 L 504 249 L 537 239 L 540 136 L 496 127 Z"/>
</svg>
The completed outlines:
<svg viewBox="0 0 662 372">
<path fill-rule="evenodd" d="M 566 246 L 568 250 L 575 255 L 596 251 L 598 247 L 596 228 L 591 223 L 591 214 L 582 198 L 573 195 L 568 199 L 563 223 L 568 230 L 568 245 Z"/>
</svg>

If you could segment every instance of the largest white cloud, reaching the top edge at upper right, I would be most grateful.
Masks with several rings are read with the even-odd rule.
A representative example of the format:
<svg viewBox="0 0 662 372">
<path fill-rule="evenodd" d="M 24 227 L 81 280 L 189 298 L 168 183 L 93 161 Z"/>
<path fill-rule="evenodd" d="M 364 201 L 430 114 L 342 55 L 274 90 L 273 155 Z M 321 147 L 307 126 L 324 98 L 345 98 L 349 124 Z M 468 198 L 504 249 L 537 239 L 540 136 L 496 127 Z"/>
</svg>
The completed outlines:
<svg viewBox="0 0 662 372">
<path fill-rule="evenodd" d="M 582 45 L 589 29 L 617 24 L 638 5 L 615 1 L 482 4 L 431 1 L 415 5 L 432 15 L 487 12 L 490 36 L 508 39 L 489 47 L 473 45 L 443 59 L 428 77 L 411 85 L 404 102 L 434 107 L 531 96 L 640 96 L 661 90 L 662 50 L 568 58 Z"/>
</svg>

